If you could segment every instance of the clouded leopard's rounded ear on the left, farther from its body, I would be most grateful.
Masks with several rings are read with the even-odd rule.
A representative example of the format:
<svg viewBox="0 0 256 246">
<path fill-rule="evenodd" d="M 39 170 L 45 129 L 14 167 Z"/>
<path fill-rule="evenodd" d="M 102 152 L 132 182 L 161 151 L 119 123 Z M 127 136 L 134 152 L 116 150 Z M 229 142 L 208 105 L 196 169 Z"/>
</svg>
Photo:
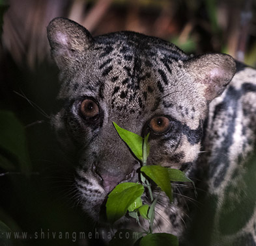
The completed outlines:
<svg viewBox="0 0 256 246">
<path fill-rule="evenodd" d="M 79 62 L 93 44 L 93 38 L 85 27 L 66 18 L 53 19 L 48 27 L 51 56 L 59 69 L 69 68 Z"/>
</svg>

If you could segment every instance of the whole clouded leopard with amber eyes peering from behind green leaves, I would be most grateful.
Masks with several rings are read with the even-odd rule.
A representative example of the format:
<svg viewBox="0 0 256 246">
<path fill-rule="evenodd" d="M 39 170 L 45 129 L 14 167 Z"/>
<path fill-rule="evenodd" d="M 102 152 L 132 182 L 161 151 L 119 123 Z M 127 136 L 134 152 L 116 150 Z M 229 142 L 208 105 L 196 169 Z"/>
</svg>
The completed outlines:
<svg viewBox="0 0 256 246">
<path fill-rule="evenodd" d="M 249 191 L 243 179 L 254 180 L 256 173 L 246 173 L 255 145 L 255 69 L 229 55 L 188 56 L 172 43 L 136 32 L 92 38 L 64 18 L 50 22 L 48 39 L 63 105 L 52 124 L 66 153 L 76 156 L 74 182 L 85 212 L 101 220 L 109 191 L 138 180 L 139 163 L 115 121 L 141 136 L 150 132 L 149 164 L 185 171 L 203 190 L 201 208 L 191 198 L 193 189 L 173 184 L 173 203 L 156 206 L 157 231 L 177 235 L 184 245 L 256 245 L 256 189 Z M 248 197 L 249 216 L 242 219 L 240 210 L 230 220 L 229 214 L 239 212 L 236 204 Z M 210 214 L 203 214 L 208 206 Z M 221 224 L 225 216 L 227 227 Z M 197 222 L 208 227 L 207 242 L 188 233 L 205 233 Z"/>
</svg>

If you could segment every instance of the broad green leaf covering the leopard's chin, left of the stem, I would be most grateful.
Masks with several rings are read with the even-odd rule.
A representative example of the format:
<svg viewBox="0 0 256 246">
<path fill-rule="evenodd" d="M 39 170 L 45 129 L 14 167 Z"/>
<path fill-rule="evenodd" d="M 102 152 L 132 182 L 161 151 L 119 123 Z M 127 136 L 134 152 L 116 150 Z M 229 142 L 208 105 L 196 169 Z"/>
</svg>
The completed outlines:
<svg viewBox="0 0 256 246">
<path fill-rule="evenodd" d="M 126 182 L 118 184 L 108 195 L 106 208 L 107 219 L 110 223 L 114 223 L 120 219 L 128 207 L 135 202 L 138 197 L 144 192 L 144 187 L 141 184 Z"/>
</svg>

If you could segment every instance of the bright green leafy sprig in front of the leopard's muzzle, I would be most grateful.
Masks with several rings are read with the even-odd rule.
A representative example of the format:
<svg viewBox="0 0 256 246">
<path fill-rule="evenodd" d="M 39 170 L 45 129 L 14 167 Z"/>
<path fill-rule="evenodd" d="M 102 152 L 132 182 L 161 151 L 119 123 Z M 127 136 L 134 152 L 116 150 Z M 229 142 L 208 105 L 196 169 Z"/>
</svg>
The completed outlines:
<svg viewBox="0 0 256 246">
<path fill-rule="evenodd" d="M 167 243 L 173 246 L 178 245 L 177 237 L 172 234 L 152 233 L 154 208 L 158 201 L 158 196 L 153 197 L 151 183 L 154 182 L 161 191 L 164 191 L 171 203 L 173 200 L 171 181 L 192 182 L 192 180 L 178 169 L 158 165 L 147 165 L 147 158 L 150 151 L 149 134 L 145 136 L 145 138 L 142 138 L 134 132 L 122 129 L 116 123 L 113 123 L 113 125 L 119 136 L 142 164 L 140 168 L 141 184 L 138 182 L 124 182 L 118 184 L 115 189 L 109 193 L 106 203 L 107 219 L 113 224 L 128 213 L 130 217 L 136 219 L 138 225 L 141 227 L 141 219 L 145 219 L 149 222 L 148 230 L 143 228 L 144 233 L 139 234 L 139 240 L 126 240 L 126 243 L 130 244 L 125 243 L 125 245 L 143 246 L 160 245 L 160 243 Z M 150 204 L 143 204 L 141 199 L 141 196 L 145 193 L 145 188 L 150 194 Z M 139 217 L 141 217 L 141 219 Z M 119 231 L 117 234 L 118 233 Z M 146 234 L 146 236 L 143 236 L 143 234 Z M 119 245 L 120 239 L 117 238 L 117 236 L 114 236 L 110 245 Z M 139 244 L 137 244 L 138 242 Z"/>
</svg>

